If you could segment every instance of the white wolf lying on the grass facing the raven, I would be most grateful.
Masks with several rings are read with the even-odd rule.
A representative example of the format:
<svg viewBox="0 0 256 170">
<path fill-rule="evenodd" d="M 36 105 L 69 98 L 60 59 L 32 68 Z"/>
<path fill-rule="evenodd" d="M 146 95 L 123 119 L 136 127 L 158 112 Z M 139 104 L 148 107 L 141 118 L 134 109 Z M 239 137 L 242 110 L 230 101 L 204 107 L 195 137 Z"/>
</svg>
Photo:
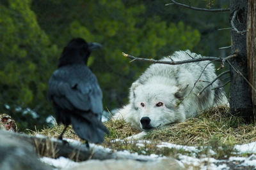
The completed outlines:
<svg viewBox="0 0 256 170">
<path fill-rule="evenodd" d="M 202 56 L 186 50 L 175 52 L 161 60 L 179 61 L 191 57 Z M 216 78 L 214 64 L 205 68 L 207 64 L 209 61 L 180 65 L 152 64 L 132 83 L 129 104 L 118 110 L 114 118 L 124 118 L 126 122 L 148 131 L 184 122 L 187 118 L 196 117 L 202 110 L 228 104 L 223 88 L 217 88 L 221 86 L 220 80 L 197 96 L 205 85 Z M 196 82 L 199 77 L 200 81 Z M 143 134 L 145 132 L 133 137 L 141 138 Z"/>
</svg>

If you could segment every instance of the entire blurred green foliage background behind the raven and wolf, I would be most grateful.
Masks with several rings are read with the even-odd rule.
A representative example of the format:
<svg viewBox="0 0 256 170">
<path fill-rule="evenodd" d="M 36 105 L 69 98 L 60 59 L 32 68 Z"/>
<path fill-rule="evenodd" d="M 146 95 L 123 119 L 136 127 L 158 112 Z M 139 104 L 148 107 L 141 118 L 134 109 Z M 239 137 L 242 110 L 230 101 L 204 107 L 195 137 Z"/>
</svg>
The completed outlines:
<svg viewBox="0 0 256 170">
<path fill-rule="evenodd" d="M 170 2 L 0 1 L 1 112 L 9 113 L 20 131 L 47 125 L 45 118 L 53 115 L 46 97 L 47 81 L 57 68 L 63 47 L 72 38 L 81 37 L 104 46 L 92 53 L 89 66 L 97 75 L 104 93 L 104 107 L 109 110 L 127 101 L 132 81 L 149 65 L 129 63 L 122 52 L 159 58 L 175 50 L 196 49 L 198 53 L 211 55 L 216 43 L 223 45 L 230 41 L 212 36 L 211 30 L 216 29 L 216 24 L 205 24 L 210 20 L 205 15 L 177 6 L 166 7 L 166 3 Z M 195 5 L 205 6 L 205 2 L 195 1 Z M 211 20 L 222 22 L 218 17 Z M 206 40 L 202 48 L 198 48 L 196 45 L 202 41 L 204 31 L 217 40 Z M 26 108 L 31 108 L 39 117 L 28 114 L 33 111 Z"/>
</svg>

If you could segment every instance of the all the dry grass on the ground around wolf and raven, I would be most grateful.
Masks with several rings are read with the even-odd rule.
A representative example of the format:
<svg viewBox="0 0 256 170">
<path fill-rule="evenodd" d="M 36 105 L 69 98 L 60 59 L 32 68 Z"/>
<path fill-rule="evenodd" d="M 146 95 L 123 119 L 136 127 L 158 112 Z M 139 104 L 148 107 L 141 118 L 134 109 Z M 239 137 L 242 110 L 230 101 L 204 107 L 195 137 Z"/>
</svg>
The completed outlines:
<svg viewBox="0 0 256 170">
<path fill-rule="evenodd" d="M 109 135 L 105 136 L 102 143 L 105 147 L 113 150 L 129 150 L 143 155 L 155 153 L 177 159 L 177 153 L 186 155 L 191 153 L 175 148 L 159 148 L 156 145 L 166 141 L 177 145 L 207 146 L 202 152 L 198 153 L 198 157 L 208 155 L 209 148 L 211 148 L 216 153 L 214 156 L 216 159 L 228 159 L 235 153 L 234 145 L 256 141 L 255 124 L 244 124 L 242 118 L 230 115 L 228 108 L 225 106 L 204 111 L 200 117 L 189 118 L 179 124 L 155 129 L 145 136 L 145 139 L 151 141 L 151 143 L 142 143 L 143 146 L 138 145 L 137 141 L 113 141 L 114 139 L 125 139 L 140 132 L 139 129 L 125 123 L 124 120 L 109 120 L 105 125 L 109 129 Z M 37 133 L 58 138 L 62 130 L 63 125 L 60 125 L 42 129 L 32 134 Z M 81 141 L 72 127 L 68 127 L 63 138 Z"/>
</svg>

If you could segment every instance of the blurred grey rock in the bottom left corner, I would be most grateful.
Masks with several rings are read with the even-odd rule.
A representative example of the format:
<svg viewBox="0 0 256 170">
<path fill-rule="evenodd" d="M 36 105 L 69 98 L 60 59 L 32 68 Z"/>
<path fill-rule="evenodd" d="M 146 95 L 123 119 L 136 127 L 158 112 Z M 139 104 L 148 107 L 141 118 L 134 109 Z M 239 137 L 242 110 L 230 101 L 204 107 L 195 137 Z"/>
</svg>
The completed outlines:
<svg viewBox="0 0 256 170">
<path fill-rule="evenodd" d="M 49 166 L 40 162 L 33 146 L 8 136 L 12 132 L 0 130 L 0 169 L 4 170 L 47 170 Z"/>
</svg>

